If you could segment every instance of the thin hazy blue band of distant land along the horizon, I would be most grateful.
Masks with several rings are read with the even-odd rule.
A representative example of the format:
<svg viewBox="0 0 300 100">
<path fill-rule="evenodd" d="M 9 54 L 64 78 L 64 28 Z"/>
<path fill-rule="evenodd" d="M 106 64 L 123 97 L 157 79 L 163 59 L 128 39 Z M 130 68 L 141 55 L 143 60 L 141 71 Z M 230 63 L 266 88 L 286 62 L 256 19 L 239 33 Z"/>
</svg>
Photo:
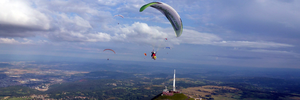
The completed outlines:
<svg viewBox="0 0 300 100">
<path fill-rule="evenodd" d="M 13 55 L 13 56 L 12 56 Z M 80 58 L 80 57 L 65 57 L 65 56 L 49 56 L 49 55 L 17 55 L 17 54 L 0 54 L 1 62 L 15 62 L 15 61 L 37 61 L 37 62 L 92 62 L 98 64 L 116 64 L 116 65 L 146 65 L 146 66 L 164 66 L 164 65 L 199 65 L 199 66 L 210 66 L 220 68 L 272 68 L 272 67 L 241 67 L 241 66 L 229 66 L 229 65 L 209 65 L 209 64 L 191 64 L 191 63 L 180 63 L 180 62 L 146 62 L 146 61 L 128 61 L 128 60 L 114 60 L 110 59 L 93 59 L 93 58 Z M 9 56 L 9 57 L 7 57 Z M 278 68 L 275 68 L 278 69 Z M 299 69 L 300 68 L 283 68 L 283 69 Z M 172 73 L 172 71 L 170 71 Z"/>
</svg>

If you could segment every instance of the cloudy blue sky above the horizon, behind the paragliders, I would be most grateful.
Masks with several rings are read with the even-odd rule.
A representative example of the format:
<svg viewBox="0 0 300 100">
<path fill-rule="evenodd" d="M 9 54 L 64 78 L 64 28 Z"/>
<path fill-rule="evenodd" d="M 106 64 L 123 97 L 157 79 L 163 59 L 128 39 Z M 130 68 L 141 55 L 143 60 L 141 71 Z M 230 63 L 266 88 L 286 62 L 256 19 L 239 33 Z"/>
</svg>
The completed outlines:
<svg viewBox="0 0 300 100">
<path fill-rule="evenodd" d="M 178 12 L 183 24 L 180 37 L 155 8 L 139 12 L 150 2 L 164 2 Z M 296 0 L 1 0 L 0 54 L 299 68 L 298 4 Z M 118 14 L 124 19 L 113 17 Z M 168 40 L 154 61 L 149 56 L 153 45 L 164 38 Z"/>
</svg>

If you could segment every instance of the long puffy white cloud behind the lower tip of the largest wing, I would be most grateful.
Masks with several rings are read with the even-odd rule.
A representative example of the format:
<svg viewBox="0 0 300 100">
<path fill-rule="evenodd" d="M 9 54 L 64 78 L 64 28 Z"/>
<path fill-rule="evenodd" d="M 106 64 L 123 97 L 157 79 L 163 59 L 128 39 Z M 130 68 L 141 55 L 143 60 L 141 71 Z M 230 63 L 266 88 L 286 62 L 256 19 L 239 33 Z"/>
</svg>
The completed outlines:
<svg viewBox="0 0 300 100">
<path fill-rule="evenodd" d="M 220 40 L 214 34 L 200 33 L 195 30 L 184 29 L 182 35 L 176 38 L 172 27 L 161 28 L 148 26 L 146 23 L 135 22 L 131 26 L 119 27 L 112 37 L 114 41 L 152 45 L 155 41 L 168 38 L 170 44 L 211 44 L 212 41 Z"/>
</svg>

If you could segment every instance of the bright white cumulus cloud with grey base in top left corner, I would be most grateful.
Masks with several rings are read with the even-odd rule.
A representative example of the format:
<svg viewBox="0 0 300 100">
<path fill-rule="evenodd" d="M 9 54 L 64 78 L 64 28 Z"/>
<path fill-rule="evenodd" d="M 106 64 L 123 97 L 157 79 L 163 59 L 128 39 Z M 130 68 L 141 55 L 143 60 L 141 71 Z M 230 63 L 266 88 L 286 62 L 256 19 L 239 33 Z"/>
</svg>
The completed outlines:
<svg viewBox="0 0 300 100">
<path fill-rule="evenodd" d="M 0 5 L 0 36 L 51 27 L 47 15 L 33 8 L 30 2 L 1 0 Z"/>
</svg>

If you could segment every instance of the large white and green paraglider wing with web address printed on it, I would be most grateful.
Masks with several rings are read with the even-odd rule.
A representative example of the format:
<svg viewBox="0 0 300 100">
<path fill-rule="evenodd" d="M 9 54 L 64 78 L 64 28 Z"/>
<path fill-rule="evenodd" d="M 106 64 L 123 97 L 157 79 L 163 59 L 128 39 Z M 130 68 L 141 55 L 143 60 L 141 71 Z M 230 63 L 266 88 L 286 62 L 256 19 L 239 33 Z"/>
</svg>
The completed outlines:
<svg viewBox="0 0 300 100">
<path fill-rule="evenodd" d="M 144 11 L 147 7 L 153 7 L 163 13 L 167 19 L 170 21 L 170 23 L 173 26 L 173 29 L 175 31 L 176 37 L 179 37 L 182 33 L 182 22 L 178 15 L 178 13 L 169 5 L 162 3 L 162 2 L 152 2 L 149 4 L 146 4 L 140 8 L 140 12 Z"/>
</svg>

